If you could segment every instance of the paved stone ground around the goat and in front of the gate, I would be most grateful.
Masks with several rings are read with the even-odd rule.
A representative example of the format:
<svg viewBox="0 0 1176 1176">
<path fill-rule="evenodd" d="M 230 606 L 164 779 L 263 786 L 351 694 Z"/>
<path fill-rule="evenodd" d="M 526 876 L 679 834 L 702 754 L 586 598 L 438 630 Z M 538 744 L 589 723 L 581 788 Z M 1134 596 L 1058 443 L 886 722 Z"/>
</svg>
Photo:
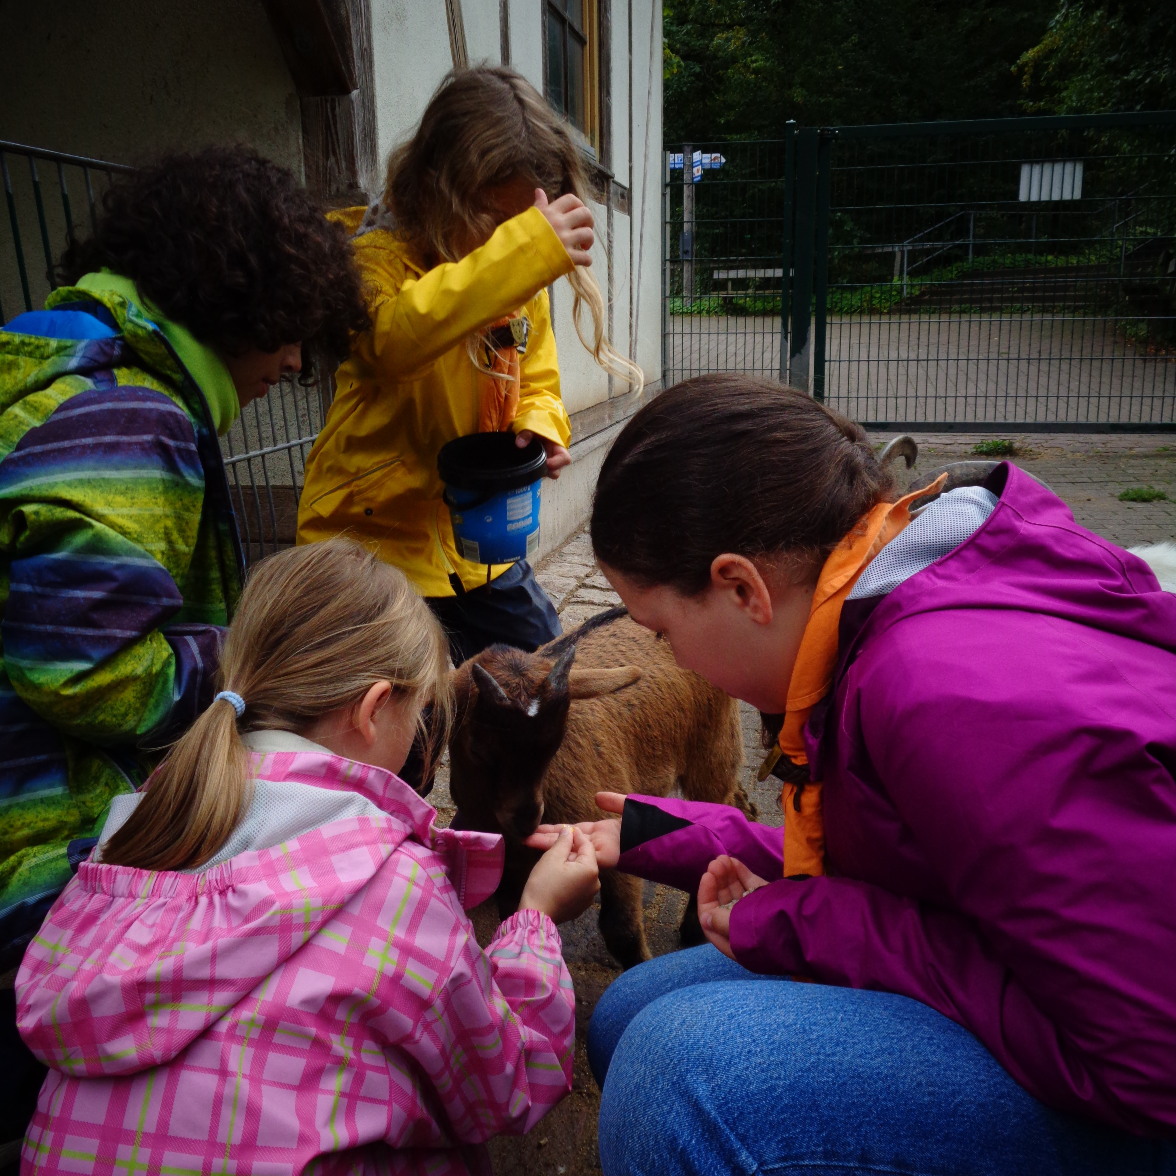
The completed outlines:
<svg viewBox="0 0 1176 1176">
<path fill-rule="evenodd" d="M 1013 460 L 1064 499 L 1084 527 L 1123 547 L 1176 540 L 1176 437 L 1009 434 L 1008 439 L 1018 447 L 1018 454 Z M 901 472 L 901 485 L 938 465 L 973 457 L 973 446 L 981 440 L 991 437 L 960 434 L 917 437 L 918 461 L 909 473 Z M 1169 501 L 1120 502 L 1120 492 L 1135 486 L 1164 490 Z M 620 603 L 600 574 L 583 532 L 540 566 L 537 579 L 554 601 L 564 632 Z M 773 782 L 761 786 L 755 781 L 755 770 L 763 756 L 759 741 L 759 716 L 742 703 L 741 711 L 747 759 L 744 787 L 760 810 L 760 820 L 779 826 L 782 823 L 779 788 L 773 787 Z M 452 818 L 453 802 L 445 768 L 439 774 L 430 801 L 437 806 L 443 821 Z M 655 955 L 676 950 L 677 923 L 684 907 L 686 895 L 646 884 L 646 931 Z M 600 1171 L 596 1150 L 600 1091 L 588 1071 L 584 1040 L 592 1010 L 608 984 L 620 975 L 620 968 L 608 955 L 596 930 L 597 914 L 599 908 L 594 906 L 579 920 L 560 929 L 577 1001 L 572 1095 L 530 1135 L 492 1142 L 497 1176 L 588 1176 Z M 473 915 L 480 941 L 488 942 L 497 926 L 493 902 L 477 908 Z"/>
</svg>

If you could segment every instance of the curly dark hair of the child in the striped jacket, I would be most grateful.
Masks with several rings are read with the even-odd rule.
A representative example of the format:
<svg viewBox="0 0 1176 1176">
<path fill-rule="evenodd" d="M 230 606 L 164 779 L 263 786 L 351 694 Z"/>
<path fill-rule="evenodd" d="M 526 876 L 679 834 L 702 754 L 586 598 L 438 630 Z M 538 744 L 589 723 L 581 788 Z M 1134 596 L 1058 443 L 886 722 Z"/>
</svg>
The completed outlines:
<svg viewBox="0 0 1176 1176">
<path fill-rule="evenodd" d="M 301 342 L 334 367 L 369 325 L 343 230 L 249 147 L 168 154 L 113 183 L 98 229 L 69 245 L 59 278 L 71 285 L 103 267 L 227 355 Z"/>
</svg>

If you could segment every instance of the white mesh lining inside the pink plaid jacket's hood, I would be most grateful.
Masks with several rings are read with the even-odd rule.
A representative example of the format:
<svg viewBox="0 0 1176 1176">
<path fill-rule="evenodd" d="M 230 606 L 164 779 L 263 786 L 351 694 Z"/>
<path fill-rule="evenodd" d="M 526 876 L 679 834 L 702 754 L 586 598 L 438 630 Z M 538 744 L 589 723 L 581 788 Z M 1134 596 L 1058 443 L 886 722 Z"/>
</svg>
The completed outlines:
<svg viewBox="0 0 1176 1176">
<path fill-rule="evenodd" d="M 115 830 L 134 811 L 142 800 L 142 793 L 115 796 L 111 801 L 111 815 L 102 827 L 98 842 L 95 860 L 100 858 L 101 847 Z M 220 866 L 247 849 L 269 849 L 283 841 L 298 837 L 330 821 L 341 821 L 353 816 L 383 816 L 383 811 L 359 793 L 340 793 L 329 788 L 315 788 L 314 784 L 299 784 L 289 780 L 255 780 L 253 783 L 253 802 L 245 818 L 233 830 L 216 855 L 194 870 L 179 870 L 180 874 L 202 874 L 213 866 Z"/>
</svg>

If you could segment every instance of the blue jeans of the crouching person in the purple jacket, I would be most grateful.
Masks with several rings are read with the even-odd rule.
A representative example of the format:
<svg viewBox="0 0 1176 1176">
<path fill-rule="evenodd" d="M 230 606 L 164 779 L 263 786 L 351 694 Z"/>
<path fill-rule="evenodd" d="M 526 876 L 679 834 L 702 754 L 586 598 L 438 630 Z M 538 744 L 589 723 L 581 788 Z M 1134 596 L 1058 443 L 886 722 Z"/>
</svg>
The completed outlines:
<svg viewBox="0 0 1176 1176">
<path fill-rule="evenodd" d="M 1050 1110 L 917 1001 L 755 976 L 707 944 L 588 1029 L 606 1176 L 1171 1176 L 1176 1143 Z"/>
</svg>

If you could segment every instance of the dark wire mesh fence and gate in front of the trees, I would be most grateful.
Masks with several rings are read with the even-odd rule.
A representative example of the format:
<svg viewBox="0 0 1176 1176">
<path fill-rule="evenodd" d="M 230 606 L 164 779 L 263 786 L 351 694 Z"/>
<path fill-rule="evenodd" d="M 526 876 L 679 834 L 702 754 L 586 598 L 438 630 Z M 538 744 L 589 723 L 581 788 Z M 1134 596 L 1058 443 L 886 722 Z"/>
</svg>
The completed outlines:
<svg viewBox="0 0 1176 1176">
<path fill-rule="evenodd" d="M 702 151 L 693 194 L 667 167 L 671 379 L 774 374 L 875 428 L 1176 428 L 1176 113 Z"/>
</svg>

